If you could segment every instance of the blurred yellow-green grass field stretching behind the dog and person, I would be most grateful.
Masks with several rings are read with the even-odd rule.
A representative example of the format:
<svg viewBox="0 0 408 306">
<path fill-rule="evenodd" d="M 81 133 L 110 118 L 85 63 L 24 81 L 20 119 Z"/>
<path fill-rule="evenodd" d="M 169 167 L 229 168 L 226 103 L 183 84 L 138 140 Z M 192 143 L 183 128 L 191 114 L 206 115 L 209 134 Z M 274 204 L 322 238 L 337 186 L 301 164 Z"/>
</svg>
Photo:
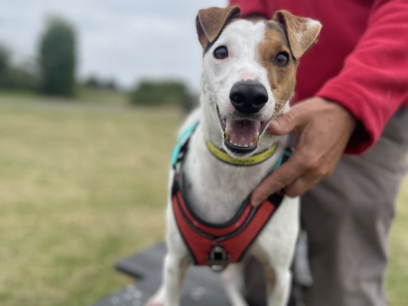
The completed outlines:
<svg viewBox="0 0 408 306">
<path fill-rule="evenodd" d="M 0 94 L 2 306 L 90 305 L 132 282 L 114 272 L 117 259 L 163 237 L 169 156 L 182 114 L 104 99 Z M 406 233 L 408 180 L 391 233 L 392 306 L 408 301 Z"/>
</svg>

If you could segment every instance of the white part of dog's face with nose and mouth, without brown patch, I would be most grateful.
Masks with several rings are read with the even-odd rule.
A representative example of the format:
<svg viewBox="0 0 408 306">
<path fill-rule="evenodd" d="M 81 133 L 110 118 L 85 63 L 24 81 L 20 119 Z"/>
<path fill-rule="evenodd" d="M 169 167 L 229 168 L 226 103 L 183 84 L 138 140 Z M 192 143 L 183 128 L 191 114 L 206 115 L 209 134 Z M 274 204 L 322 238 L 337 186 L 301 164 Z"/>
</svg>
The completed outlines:
<svg viewBox="0 0 408 306">
<path fill-rule="evenodd" d="M 206 107 L 213 119 L 219 119 L 224 148 L 233 156 L 249 156 L 256 150 L 259 136 L 276 114 L 275 102 L 286 102 L 275 100 L 266 67 L 260 63 L 259 45 L 264 37 L 264 22 L 237 20 L 224 29 L 203 58 Z"/>
</svg>

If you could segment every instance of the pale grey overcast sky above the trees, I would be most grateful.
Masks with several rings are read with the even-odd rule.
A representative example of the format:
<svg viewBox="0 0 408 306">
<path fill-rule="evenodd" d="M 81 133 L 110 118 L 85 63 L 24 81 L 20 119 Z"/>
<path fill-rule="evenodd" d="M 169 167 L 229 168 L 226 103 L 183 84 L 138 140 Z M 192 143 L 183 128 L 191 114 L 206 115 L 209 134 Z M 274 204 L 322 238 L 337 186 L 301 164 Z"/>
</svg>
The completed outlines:
<svg viewBox="0 0 408 306">
<path fill-rule="evenodd" d="M 76 27 L 79 77 L 97 74 L 130 86 L 140 78 L 170 77 L 199 87 L 201 47 L 195 32 L 200 8 L 226 0 L 0 0 L 0 42 L 13 60 L 34 61 L 46 17 Z"/>
</svg>

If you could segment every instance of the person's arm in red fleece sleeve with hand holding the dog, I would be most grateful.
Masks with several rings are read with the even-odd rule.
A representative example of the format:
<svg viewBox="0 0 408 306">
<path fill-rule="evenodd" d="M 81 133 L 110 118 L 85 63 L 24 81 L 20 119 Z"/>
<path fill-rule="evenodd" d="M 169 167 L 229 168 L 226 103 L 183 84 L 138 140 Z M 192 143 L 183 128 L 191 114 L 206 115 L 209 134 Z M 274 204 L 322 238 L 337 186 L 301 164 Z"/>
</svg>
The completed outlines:
<svg viewBox="0 0 408 306">
<path fill-rule="evenodd" d="M 289 161 L 254 190 L 252 205 L 282 188 L 301 195 L 334 170 L 346 147 L 354 154 L 367 149 L 408 98 L 407 91 L 408 2 L 378 0 L 339 75 L 317 97 L 296 104 L 269 126 L 274 135 L 295 131 L 298 144 Z"/>
</svg>

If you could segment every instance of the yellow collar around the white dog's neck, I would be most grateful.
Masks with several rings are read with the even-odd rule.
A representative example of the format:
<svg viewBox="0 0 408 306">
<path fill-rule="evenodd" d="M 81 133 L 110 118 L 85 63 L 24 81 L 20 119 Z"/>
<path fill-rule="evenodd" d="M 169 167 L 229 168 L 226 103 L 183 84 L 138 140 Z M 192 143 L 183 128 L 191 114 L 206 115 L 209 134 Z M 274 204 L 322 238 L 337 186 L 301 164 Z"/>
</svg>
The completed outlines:
<svg viewBox="0 0 408 306">
<path fill-rule="evenodd" d="M 276 151 L 277 144 L 278 142 L 276 141 L 269 149 L 266 149 L 265 151 L 262 151 L 261 153 L 257 155 L 252 155 L 245 160 L 239 160 L 239 159 L 232 158 L 231 156 L 226 154 L 223 150 L 219 149 L 210 140 L 207 141 L 208 149 L 216 158 L 218 158 L 219 160 L 225 163 L 236 165 L 236 166 L 252 166 L 252 165 L 256 165 L 256 164 L 266 161 Z"/>
</svg>

